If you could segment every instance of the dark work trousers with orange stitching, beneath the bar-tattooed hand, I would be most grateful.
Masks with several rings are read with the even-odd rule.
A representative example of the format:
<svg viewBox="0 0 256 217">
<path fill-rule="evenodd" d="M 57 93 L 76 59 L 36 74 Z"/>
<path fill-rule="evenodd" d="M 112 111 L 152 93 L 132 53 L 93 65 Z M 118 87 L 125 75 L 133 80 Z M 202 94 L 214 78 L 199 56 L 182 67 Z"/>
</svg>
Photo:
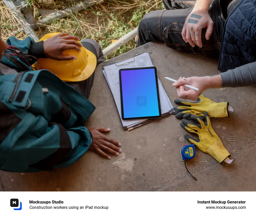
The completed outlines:
<svg viewBox="0 0 256 217">
<path fill-rule="evenodd" d="M 195 1 L 163 0 L 166 10 L 156 10 L 147 13 L 139 23 L 136 36 L 137 46 L 150 41 L 163 42 L 166 46 L 184 53 L 201 54 L 208 58 L 218 58 L 224 20 L 221 16 L 219 0 L 209 7 L 209 15 L 214 22 L 209 40 L 205 39 L 206 28 L 202 29 L 202 47 L 192 47 L 182 38 L 182 29 L 187 16 L 191 13 Z"/>
</svg>

